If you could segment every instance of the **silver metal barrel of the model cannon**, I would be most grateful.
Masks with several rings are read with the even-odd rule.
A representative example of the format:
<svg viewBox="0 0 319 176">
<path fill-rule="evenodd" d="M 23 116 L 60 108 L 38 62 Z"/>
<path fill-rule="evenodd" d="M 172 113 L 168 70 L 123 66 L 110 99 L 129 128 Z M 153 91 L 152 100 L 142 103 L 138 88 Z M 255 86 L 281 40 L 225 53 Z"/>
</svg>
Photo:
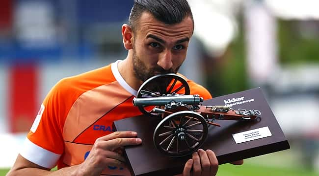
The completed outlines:
<svg viewBox="0 0 319 176">
<path fill-rule="evenodd" d="M 203 98 L 199 95 L 173 95 L 173 96 L 162 96 L 162 97 L 147 97 L 147 98 L 133 98 L 134 106 L 164 106 L 171 102 L 183 103 L 186 105 L 199 105 L 203 102 Z"/>
</svg>

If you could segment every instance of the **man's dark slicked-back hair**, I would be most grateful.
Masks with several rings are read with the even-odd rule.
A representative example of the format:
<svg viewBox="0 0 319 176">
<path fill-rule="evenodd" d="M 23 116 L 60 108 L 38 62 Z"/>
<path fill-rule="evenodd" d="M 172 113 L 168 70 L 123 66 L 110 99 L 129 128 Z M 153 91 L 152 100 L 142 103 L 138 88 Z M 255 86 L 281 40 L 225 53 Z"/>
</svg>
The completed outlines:
<svg viewBox="0 0 319 176">
<path fill-rule="evenodd" d="M 165 24 L 176 24 L 189 16 L 194 25 L 193 14 L 187 0 L 134 0 L 129 17 L 129 25 L 133 31 L 136 29 L 139 17 L 145 11 Z"/>
</svg>

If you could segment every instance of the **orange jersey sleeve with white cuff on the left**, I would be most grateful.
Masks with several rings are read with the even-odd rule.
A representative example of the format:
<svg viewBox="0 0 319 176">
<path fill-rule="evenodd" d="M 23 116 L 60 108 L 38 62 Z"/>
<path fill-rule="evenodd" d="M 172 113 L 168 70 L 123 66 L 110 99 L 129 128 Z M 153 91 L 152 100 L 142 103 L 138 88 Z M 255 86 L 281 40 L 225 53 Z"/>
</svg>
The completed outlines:
<svg viewBox="0 0 319 176">
<path fill-rule="evenodd" d="M 64 150 L 62 130 L 67 113 L 67 102 L 61 101 L 64 87 L 60 81 L 50 90 L 20 152 L 27 160 L 45 168 L 53 168 Z"/>
</svg>

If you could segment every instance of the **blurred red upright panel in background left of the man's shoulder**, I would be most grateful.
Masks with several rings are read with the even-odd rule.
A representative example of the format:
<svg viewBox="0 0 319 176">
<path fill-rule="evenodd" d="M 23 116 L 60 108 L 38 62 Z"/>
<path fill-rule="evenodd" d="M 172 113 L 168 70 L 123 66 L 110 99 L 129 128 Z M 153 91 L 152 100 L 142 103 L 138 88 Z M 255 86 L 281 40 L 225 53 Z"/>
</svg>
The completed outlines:
<svg viewBox="0 0 319 176">
<path fill-rule="evenodd" d="M 9 131 L 28 132 L 40 108 L 38 100 L 38 67 L 14 65 L 9 71 Z"/>
</svg>

